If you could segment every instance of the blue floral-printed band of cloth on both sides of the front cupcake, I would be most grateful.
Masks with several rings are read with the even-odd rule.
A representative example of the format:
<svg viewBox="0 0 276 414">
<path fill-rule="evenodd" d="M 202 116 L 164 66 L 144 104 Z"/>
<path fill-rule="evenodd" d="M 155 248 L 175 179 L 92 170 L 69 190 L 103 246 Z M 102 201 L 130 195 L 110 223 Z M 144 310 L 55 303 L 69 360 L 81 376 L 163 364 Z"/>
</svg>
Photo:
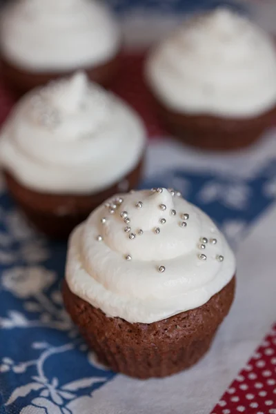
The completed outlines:
<svg viewBox="0 0 276 414">
<path fill-rule="evenodd" d="M 276 158 L 251 179 L 166 168 L 141 187 L 175 184 L 237 246 L 276 199 Z M 63 309 L 66 244 L 33 233 L 5 189 L 0 204 L 0 413 L 90 413 L 94 391 L 115 373 L 88 351 Z"/>
</svg>

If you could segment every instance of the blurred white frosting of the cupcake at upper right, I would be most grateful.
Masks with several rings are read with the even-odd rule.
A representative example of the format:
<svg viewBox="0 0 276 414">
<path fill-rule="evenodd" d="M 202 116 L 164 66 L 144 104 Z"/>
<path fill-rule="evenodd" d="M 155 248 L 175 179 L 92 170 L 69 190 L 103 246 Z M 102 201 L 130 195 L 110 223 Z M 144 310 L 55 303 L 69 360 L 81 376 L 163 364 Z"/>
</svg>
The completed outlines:
<svg viewBox="0 0 276 414">
<path fill-rule="evenodd" d="M 246 17 L 218 8 L 184 22 L 157 46 L 146 77 L 177 112 L 253 117 L 276 103 L 275 46 Z"/>
</svg>

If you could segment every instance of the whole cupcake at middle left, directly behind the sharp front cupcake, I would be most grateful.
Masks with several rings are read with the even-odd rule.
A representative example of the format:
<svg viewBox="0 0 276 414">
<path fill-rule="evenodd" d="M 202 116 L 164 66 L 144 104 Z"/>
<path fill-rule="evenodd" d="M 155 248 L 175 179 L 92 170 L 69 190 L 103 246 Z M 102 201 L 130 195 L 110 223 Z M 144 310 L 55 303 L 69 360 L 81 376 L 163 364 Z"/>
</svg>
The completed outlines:
<svg viewBox="0 0 276 414">
<path fill-rule="evenodd" d="M 65 237 L 106 197 L 137 185 L 144 150 L 135 112 L 79 72 L 19 101 L 1 132 L 0 161 L 30 221 Z"/>
</svg>

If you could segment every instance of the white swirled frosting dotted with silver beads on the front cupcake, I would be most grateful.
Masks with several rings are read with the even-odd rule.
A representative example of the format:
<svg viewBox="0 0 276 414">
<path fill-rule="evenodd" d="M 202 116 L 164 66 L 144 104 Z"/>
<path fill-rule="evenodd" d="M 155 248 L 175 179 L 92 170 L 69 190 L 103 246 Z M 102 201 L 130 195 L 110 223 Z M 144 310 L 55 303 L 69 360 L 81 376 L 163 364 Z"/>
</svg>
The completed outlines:
<svg viewBox="0 0 276 414">
<path fill-rule="evenodd" d="M 150 324 L 208 302 L 235 274 L 213 221 L 174 190 L 117 195 L 70 237 L 66 280 L 109 317 Z"/>
</svg>

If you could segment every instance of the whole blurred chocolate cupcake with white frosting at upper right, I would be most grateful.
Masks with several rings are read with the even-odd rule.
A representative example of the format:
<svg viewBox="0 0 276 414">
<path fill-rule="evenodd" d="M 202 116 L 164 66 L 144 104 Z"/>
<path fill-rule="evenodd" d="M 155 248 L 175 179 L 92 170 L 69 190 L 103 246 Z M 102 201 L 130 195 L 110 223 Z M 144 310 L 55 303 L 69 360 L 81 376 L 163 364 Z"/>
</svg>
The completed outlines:
<svg viewBox="0 0 276 414">
<path fill-rule="evenodd" d="M 247 146 L 276 116 L 273 41 L 226 8 L 188 20 L 152 50 L 146 78 L 161 117 L 193 146 Z"/>
</svg>

